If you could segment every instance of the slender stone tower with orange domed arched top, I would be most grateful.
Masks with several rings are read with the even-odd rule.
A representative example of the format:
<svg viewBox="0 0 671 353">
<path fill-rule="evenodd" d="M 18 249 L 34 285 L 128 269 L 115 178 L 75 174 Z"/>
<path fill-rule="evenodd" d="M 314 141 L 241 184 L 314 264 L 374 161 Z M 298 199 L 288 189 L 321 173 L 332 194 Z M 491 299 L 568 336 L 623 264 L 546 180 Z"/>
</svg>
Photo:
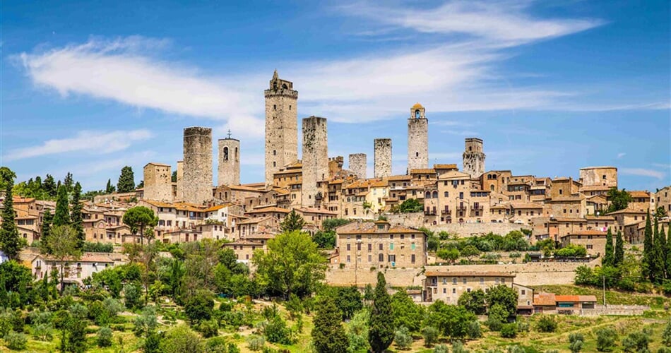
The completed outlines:
<svg viewBox="0 0 671 353">
<path fill-rule="evenodd" d="M 408 119 L 408 174 L 412 169 L 429 167 L 429 120 L 424 107 L 417 103 L 410 108 Z"/>
</svg>

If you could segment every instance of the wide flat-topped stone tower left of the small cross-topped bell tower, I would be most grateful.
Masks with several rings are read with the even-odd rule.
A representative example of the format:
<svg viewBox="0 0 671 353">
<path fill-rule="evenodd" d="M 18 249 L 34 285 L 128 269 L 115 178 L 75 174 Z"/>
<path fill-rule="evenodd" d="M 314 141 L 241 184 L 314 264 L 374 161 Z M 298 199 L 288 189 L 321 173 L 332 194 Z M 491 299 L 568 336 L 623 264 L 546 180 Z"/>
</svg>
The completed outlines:
<svg viewBox="0 0 671 353">
<path fill-rule="evenodd" d="M 184 201 L 201 205 L 211 200 L 212 186 L 212 129 L 184 128 Z"/>
</svg>

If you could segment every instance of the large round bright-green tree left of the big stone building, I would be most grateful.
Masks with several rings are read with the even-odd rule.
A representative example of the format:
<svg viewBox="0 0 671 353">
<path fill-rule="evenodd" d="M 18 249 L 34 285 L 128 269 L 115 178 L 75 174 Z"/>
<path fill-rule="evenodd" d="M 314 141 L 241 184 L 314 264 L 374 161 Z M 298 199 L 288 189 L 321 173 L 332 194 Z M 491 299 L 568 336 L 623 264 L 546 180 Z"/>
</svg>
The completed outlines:
<svg viewBox="0 0 671 353">
<path fill-rule="evenodd" d="M 309 234 L 285 232 L 268 241 L 268 251 L 256 251 L 256 278 L 271 291 L 289 298 L 307 297 L 325 277 L 323 258 Z"/>
</svg>

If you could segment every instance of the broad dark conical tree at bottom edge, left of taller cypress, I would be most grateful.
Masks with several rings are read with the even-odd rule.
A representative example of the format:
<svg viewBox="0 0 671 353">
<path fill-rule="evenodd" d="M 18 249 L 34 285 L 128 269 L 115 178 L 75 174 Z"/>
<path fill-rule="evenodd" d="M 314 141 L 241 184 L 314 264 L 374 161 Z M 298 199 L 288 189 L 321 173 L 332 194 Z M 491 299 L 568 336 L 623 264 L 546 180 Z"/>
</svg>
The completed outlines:
<svg viewBox="0 0 671 353">
<path fill-rule="evenodd" d="M 340 324 L 341 314 L 331 296 L 323 297 L 314 316 L 311 332 L 314 349 L 319 353 L 347 352 L 348 337 Z"/>
</svg>

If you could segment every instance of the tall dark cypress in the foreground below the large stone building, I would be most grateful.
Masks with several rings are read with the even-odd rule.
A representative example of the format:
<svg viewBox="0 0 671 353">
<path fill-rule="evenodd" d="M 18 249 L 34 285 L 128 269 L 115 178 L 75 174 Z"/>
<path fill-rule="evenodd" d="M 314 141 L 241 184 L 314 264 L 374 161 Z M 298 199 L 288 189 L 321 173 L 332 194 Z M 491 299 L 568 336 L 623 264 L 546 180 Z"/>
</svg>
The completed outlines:
<svg viewBox="0 0 671 353">
<path fill-rule="evenodd" d="M 391 297 L 386 289 L 384 274 L 377 273 L 377 285 L 369 318 L 368 342 L 374 353 L 384 352 L 393 340 L 393 317 Z"/>
</svg>

